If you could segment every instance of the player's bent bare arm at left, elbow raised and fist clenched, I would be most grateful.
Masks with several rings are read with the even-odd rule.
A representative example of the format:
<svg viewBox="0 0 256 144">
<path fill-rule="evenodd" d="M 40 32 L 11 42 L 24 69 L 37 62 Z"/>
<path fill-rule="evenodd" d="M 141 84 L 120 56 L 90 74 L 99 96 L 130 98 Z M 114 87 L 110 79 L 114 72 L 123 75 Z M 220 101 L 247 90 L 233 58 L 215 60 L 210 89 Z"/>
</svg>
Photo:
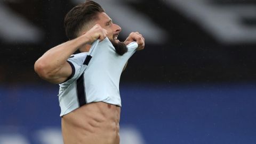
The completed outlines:
<svg viewBox="0 0 256 144">
<path fill-rule="evenodd" d="M 70 55 L 86 44 L 91 44 L 97 39 L 101 41 L 106 36 L 107 30 L 96 24 L 82 36 L 48 50 L 35 62 L 34 69 L 42 79 L 52 83 L 61 83 L 72 73 L 71 66 L 67 62 Z"/>
</svg>

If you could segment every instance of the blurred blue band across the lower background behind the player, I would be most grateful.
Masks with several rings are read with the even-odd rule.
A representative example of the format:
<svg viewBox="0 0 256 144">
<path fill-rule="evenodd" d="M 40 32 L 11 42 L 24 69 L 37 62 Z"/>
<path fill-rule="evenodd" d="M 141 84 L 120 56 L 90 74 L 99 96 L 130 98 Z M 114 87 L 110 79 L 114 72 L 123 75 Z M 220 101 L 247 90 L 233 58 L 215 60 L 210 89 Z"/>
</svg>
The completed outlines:
<svg viewBox="0 0 256 144">
<path fill-rule="evenodd" d="M 256 142 L 255 85 L 121 84 L 120 91 L 121 144 Z M 1 144 L 61 143 L 56 87 L 0 92 Z"/>
</svg>

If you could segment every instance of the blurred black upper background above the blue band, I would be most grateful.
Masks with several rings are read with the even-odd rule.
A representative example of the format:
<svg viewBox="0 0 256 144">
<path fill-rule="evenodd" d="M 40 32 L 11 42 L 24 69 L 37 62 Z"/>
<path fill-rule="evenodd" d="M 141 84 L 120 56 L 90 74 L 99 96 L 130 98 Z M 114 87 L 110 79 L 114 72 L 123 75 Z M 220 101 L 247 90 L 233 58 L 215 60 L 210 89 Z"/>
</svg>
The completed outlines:
<svg viewBox="0 0 256 144">
<path fill-rule="evenodd" d="M 42 82 L 34 72 L 34 62 L 47 49 L 67 40 L 63 18 L 77 2 L 71 0 L 0 2 L 1 83 Z M 106 1 L 97 2 L 102 4 L 108 13 L 109 7 L 105 4 Z M 146 48 L 142 52 L 135 53 L 129 60 L 122 81 L 172 83 L 255 81 L 256 40 L 254 39 L 256 38 L 251 34 L 252 36 L 248 38 L 250 40 L 246 40 L 246 35 L 239 31 L 239 28 L 255 31 L 256 12 L 247 11 L 251 9 L 253 11 L 256 2 L 249 0 L 202 2 L 205 3 L 194 1 L 190 10 L 186 9 L 189 5 L 187 0 L 109 1 L 110 4 L 125 6 L 124 11 L 127 9 L 128 12 L 142 15 L 146 20 L 135 22 L 142 27 L 148 24 L 154 26 L 146 31 L 142 30 L 142 35 L 146 38 Z M 111 13 L 113 11 L 121 12 L 118 6 L 116 9 L 111 9 L 110 16 L 115 15 Z M 214 13 L 210 13 L 210 8 L 208 11 L 207 6 L 210 6 L 214 10 L 219 10 L 220 15 L 204 18 L 205 15 L 200 15 L 202 12 L 198 15 L 194 13 L 196 11 L 193 6 L 194 9 L 199 6 L 198 11 L 202 9 L 206 14 L 209 12 L 213 15 Z M 203 9 L 204 6 L 206 10 Z M 237 18 L 235 22 L 241 27 L 231 29 L 232 26 L 227 25 L 221 35 L 221 26 L 225 26 L 226 23 L 220 18 L 221 15 L 229 13 L 225 13 L 229 10 L 235 16 L 238 15 L 234 18 Z M 123 22 L 122 19 L 116 19 L 116 16 L 113 16 L 113 19 L 117 24 Z M 206 21 L 208 19 L 209 21 Z M 214 25 L 213 22 L 211 25 L 211 21 L 217 24 Z M 125 28 L 132 26 L 132 23 L 127 23 L 127 26 L 120 24 L 124 33 L 121 35 L 122 40 L 129 34 Z M 230 30 L 227 30 L 229 28 Z M 160 43 L 152 40 L 154 36 L 150 33 L 154 33 L 154 29 L 159 31 L 159 36 L 164 36 L 164 40 Z M 237 31 L 238 37 L 233 38 L 234 35 L 228 35 L 234 31 Z M 156 36 L 156 39 L 159 36 Z"/>
</svg>

